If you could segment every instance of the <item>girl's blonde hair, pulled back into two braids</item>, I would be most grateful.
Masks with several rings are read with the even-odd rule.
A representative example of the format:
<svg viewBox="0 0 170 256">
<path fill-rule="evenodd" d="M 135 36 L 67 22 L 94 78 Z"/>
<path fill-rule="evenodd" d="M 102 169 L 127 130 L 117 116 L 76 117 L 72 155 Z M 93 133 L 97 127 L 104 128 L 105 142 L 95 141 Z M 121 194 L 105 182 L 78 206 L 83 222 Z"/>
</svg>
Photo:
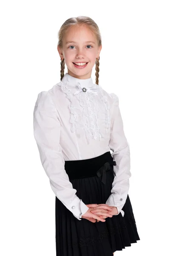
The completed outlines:
<svg viewBox="0 0 170 256">
<path fill-rule="evenodd" d="M 62 26 L 58 32 L 58 38 L 59 38 L 58 46 L 60 48 L 62 48 L 63 38 L 64 38 L 65 33 L 69 27 L 82 25 L 82 24 L 88 26 L 88 28 L 91 29 L 92 32 L 94 32 L 94 34 L 96 35 L 98 47 L 101 46 L 102 39 L 101 39 L 99 27 L 94 22 L 94 20 L 92 20 L 90 17 L 86 17 L 86 16 L 71 17 L 68 20 L 65 20 L 65 22 L 62 24 Z M 96 63 L 95 63 L 96 64 L 96 67 L 95 67 L 96 84 L 98 84 L 98 85 L 99 85 L 99 59 L 100 59 L 100 57 L 96 58 Z M 61 80 L 64 77 L 64 69 L 65 69 L 65 59 L 63 58 L 63 60 L 61 60 L 61 70 L 60 70 Z"/>
</svg>

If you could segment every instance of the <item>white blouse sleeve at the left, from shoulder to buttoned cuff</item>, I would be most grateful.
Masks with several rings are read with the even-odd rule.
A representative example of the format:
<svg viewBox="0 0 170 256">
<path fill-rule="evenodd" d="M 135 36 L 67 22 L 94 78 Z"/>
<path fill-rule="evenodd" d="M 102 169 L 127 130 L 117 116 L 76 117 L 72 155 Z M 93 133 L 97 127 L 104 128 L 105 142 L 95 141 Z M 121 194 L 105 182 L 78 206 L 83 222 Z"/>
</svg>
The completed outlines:
<svg viewBox="0 0 170 256">
<path fill-rule="evenodd" d="M 76 195 L 69 177 L 65 172 L 65 160 L 60 140 L 58 111 L 50 96 L 50 91 L 38 94 L 33 115 L 34 138 L 40 153 L 40 160 L 49 178 L 51 189 L 62 204 L 81 220 L 88 207 Z"/>
</svg>

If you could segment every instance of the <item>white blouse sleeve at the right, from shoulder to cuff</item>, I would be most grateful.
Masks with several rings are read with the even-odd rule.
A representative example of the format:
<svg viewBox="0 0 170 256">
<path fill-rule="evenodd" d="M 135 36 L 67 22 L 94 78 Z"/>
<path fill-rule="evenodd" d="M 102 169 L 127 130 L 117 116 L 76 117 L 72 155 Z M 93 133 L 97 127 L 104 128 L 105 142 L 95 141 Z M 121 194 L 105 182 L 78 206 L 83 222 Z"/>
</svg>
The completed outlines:
<svg viewBox="0 0 170 256">
<path fill-rule="evenodd" d="M 125 137 L 123 129 L 122 116 L 119 109 L 119 98 L 115 93 L 111 93 L 113 108 L 111 113 L 111 135 L 109 148 L 113 151 L 111 154 L 113 161 L 116 161 L 116 166 L 113 166 L 116 176 L 112 183 L 111 195 L 105 204 L 117 207 L 118 214 L 125 205 L 127 194 L 129 191 L 130 172 L 130 148 Z M 118 215 L 116 214 L 116 215 Z"/>
</svg>

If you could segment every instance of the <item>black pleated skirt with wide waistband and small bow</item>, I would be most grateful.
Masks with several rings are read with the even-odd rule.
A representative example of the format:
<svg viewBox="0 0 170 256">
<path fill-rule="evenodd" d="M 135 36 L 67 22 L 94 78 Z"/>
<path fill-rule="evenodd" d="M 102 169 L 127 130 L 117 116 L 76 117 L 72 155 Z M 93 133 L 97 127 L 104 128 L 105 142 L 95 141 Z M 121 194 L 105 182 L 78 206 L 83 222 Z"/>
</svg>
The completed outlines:
<svg viewBox="0 0 170 256">
<path fill-rule="evenodd" d="M 115 177 L 110 151 L 85 160 L 65 161 L 65 171 L 76 195 L 85 204 L 105 204 Z M 140 240 L 129 196 L 121 212 L 105 222 L 78 220 L 56 197 L 56 255 L 113 256 Z"/>
</svg>

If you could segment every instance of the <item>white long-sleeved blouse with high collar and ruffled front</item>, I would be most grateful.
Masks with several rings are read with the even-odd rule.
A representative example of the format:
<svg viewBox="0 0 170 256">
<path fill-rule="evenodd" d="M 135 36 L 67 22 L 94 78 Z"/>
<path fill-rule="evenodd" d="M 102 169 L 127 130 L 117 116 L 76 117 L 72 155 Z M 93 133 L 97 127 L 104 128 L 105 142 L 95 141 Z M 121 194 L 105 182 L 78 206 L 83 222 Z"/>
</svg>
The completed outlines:
<svg viewBox="0 0 170 256">
<path fill-rule="evenodd" d="M 92 78 L 77 79 L 65 73 L 62 81 L 37 96 L 34 138 L 51 189 L 73 215 L 81 220 L 88 207 L 77 197 L 65 172 L 65 161 L 98 157 L 112 150 L 116 161 L 111 195 L 105 202 L 122 210 L 128 190 L 130 148 L 124 134 L 115 93 L 107 93 Z M 117 215 L 118 215 L 117 214 Z"/>
</svg>

